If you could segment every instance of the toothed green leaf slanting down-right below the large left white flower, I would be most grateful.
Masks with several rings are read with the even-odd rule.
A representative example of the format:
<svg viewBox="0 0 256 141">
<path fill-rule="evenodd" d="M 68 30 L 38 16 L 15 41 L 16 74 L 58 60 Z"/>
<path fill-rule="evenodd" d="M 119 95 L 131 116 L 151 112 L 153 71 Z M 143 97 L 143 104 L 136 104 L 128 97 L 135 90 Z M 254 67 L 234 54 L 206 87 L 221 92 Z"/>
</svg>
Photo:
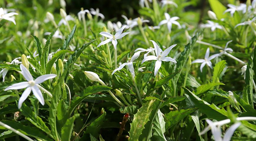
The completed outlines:
<svg viewBox="0 0 256 141">
<path fill-rule="evenodd" d="M 50 137 L 53 137 L 45 122 L 39 116 L 36 116 L 36 113 L 34 113 L 25 103 L 22 104 L 20 111 L 26 117 L 26 120 L 46 132 Z"/>
</svg>

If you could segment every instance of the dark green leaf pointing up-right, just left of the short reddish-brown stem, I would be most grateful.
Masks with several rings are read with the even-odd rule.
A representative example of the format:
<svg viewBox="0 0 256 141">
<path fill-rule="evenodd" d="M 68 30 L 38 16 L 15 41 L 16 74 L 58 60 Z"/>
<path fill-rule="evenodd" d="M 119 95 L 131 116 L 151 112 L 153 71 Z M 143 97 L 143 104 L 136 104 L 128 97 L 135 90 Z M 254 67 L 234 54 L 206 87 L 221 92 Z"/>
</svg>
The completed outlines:
<svg viewBox="0 0 256 141">
<path fill-rule="evenodd" d="M 94 120 L 89 126 L 87 126 L 84 134 L 92 134 L 94 137 L 99 137 L 99 130 L 104 123 L 106 112 Z"/>
</svg>

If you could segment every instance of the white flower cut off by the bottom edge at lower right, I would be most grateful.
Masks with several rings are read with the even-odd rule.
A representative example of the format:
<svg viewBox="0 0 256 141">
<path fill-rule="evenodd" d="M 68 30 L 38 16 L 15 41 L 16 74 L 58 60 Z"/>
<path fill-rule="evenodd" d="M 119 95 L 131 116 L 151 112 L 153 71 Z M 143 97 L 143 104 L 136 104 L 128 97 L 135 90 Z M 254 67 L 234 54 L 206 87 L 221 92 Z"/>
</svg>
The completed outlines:
<svg viewBox="0 0 256 141">
<path fill-rule="evenodd" d="M 235 123 L 232 126 L 230 126 L 226 132 L 224 137 L 222 138 L 222 132 L 220 129 L 220 126 L 216 126 L 214 124 L 214 122 L 212 122 L 211 120 L 207 119 L 206 122 L 209 124 L 211 131 L 212 131 L 212 135 L 214 137 L 215 141 L 230 141 L 232 135 L 234 134 L 235 130 L 241 125 L 241 122 Z M 202 132 L 200 133 L 202 135 Z"/>
</svg>

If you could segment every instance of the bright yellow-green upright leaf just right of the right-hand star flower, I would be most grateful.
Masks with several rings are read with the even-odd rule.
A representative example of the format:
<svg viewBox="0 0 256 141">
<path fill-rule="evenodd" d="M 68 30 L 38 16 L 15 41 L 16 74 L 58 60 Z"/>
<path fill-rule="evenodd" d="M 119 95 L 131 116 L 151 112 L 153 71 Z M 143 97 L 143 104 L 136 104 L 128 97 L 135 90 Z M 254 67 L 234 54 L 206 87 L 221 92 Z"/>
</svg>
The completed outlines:
<svg viewBox="0 0 256 141">
<path fill-rule="evenodd" d="M 218 82 L 217 80 L 220 80 L 220 75 L 222 73 L 222 71 L 224 70 L 224 68 L 226 67 L 226 61 L 222 60 L 219 63 L 215 64 L 215 66 L 213 67 L 213 75 L 212 75 L 212 82 Z"/>
</svg>

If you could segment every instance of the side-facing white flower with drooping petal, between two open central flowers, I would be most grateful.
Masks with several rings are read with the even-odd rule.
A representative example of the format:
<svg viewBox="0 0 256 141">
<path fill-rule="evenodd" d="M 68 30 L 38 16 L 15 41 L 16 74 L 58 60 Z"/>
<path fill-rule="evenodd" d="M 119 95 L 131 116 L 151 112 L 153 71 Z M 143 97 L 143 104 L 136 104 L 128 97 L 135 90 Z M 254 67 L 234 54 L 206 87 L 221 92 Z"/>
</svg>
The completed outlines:
<svg viewBox="0 0 256 141">
<path fill-rule="evenodd" d="M 134 55 L 132 56 L 132 58 L 129 58 L 127 63 L 123 63 L 122 65 L 120 65 L 117 69 L 115 69 L 113 72 L 112 72 L 112 75 L 117 71 L 117 70 L 121 70 L 122 68 L 124 68 L 124 66 L 127 66 L 129 71 L 131 72 L 131 74 L 133 75 L 133 77 L 135 77 L 135 74 L 134 74 L 134 68 L 133 68 L 133 61 L 135 59 L 137 59 L 140 55 L 141 52 L 144 52 L 144 51 L 138 51 L 136 53 L 134 53 Z"/>
</svg>

